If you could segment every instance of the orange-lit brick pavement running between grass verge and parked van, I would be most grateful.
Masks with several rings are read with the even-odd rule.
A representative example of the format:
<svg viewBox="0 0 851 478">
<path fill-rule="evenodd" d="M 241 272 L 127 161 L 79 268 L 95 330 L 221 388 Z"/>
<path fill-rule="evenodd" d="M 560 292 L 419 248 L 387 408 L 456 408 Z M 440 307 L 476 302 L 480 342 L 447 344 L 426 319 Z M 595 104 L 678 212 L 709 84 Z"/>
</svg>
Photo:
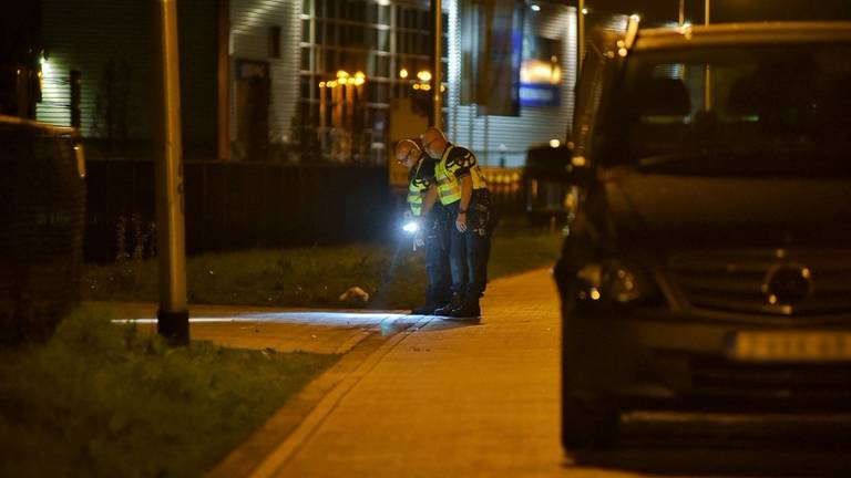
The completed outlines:
<svg viewBox="0 0 851 478">
<path fill-rule="evenodd" d="M 252 476 L 575 475 L 558 443 L 560 320 L 548 271 L 493 281 L 482 305 L 480 323 L 423 318 L 385 341 L 273 453 L 255 457 Z"/>
</svg>

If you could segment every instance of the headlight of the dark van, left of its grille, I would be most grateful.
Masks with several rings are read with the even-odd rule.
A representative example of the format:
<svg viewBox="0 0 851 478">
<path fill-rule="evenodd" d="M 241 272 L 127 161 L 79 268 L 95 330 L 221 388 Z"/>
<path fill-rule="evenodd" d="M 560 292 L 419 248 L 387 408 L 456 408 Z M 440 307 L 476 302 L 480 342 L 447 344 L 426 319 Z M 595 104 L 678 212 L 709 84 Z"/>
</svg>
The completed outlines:
<svg viewBox="0 0 851 478">
<path fill-rule="evenodd" d="M 591 262 L 576 272 L 576 299 L 581 301 L 650 304 L 662 299 L 649 274 L 624 261 Z"/>
</svg>

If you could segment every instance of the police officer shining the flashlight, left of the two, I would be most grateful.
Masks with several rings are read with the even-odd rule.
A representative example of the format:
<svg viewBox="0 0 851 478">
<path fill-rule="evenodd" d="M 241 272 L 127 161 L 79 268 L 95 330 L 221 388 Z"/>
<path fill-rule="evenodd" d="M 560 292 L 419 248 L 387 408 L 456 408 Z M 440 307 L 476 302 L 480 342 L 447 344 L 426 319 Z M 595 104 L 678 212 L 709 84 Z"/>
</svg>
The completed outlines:
<svg viewBox="0 0 851 478">
<path fill-rule="evenodd" d="M 414 249 L 426 248 L 426 303 L 411 311 L 431 314 L 450 301 L 449 222 L 443 206 L 437 201 L 435 160 L 422 153 L 412 139 L 396 144 L 397 160 L 408 167 L 407 202 L 416 225 Z"/>
</svg>

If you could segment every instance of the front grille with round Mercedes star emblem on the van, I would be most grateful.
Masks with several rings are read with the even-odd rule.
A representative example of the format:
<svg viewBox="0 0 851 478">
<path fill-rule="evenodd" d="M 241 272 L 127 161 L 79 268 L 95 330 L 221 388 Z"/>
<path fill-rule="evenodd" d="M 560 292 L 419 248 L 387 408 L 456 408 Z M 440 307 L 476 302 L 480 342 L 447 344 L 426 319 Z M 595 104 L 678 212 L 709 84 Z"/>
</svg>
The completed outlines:
<svg viewBox="0 0 851 478">
<path fill-rule="evenodd" d="M 851 311 L 851 251 L 693 252 L 670 258 L 696 308 L 769 315 Z"/>
</svg>

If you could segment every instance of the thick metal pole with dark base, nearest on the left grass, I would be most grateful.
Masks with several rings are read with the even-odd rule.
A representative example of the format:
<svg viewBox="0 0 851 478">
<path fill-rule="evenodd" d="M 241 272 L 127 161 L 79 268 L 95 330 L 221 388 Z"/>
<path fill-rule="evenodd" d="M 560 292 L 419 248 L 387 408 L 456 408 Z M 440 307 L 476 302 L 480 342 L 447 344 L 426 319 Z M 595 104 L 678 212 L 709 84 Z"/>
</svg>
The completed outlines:
<svg viewBox="0 0 851 478">
<path fill-rule="evenodd" d="M 177 0 L 154 0 L 154 116 L 160 309 L 157 332 L 174 345 L 189 343 L 186 306 L 181 80 L 177 56 Z"/>
</svg>

